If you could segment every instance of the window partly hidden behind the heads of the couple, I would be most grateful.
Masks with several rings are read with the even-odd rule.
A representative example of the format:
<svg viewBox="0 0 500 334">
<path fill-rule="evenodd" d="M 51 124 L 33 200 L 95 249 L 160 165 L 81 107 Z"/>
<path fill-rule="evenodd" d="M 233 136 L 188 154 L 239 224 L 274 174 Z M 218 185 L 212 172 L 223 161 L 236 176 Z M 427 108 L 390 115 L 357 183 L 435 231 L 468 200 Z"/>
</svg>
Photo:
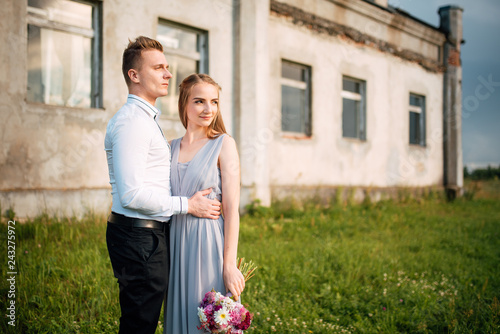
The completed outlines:
<svg viewBox="0 0 500 334">
<path fill-rule="evenodd" d="M 157 39 L 163 45 L 172 78 L 168 95 L 157 99 L 156 106 L 163 116 L 177 118 L 178 89 L 182 80 L 193 73 L 208 73 L 208 34 L 160 20 Z"/>
</svg>

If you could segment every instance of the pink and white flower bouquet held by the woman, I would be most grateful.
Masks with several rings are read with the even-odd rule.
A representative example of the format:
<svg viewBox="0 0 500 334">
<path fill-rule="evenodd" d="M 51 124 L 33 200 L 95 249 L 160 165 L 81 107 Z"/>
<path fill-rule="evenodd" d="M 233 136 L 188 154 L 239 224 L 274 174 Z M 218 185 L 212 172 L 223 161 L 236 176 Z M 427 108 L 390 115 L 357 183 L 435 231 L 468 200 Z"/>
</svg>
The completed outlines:
<svg viewBox="0 0 500 334">
<path fill-rule="evenodd" d="M 257 267 L 252 261 L 244 263 L 244 259 L 238 259 L 238 269 L 246 282 L 253 277 Z M 205 294 L 198 307 L 198 317 L 201 322 L 198 329 L 204 329 L 208 333 L 243 334 L 250 327 L 253 314 L 230 293 L 224 296 L 212 289 Z"/>
</svg>

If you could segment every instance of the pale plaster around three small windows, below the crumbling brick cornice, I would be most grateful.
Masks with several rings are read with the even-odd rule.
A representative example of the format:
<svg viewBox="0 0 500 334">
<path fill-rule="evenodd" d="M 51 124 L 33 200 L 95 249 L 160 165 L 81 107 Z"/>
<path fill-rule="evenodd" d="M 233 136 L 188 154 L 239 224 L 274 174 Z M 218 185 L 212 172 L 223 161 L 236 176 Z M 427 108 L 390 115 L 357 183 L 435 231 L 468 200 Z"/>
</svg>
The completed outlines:
<svg viewBox="0 0 500 334">
<path fill-rule="evenodd" d="M 442 74 L 272 17 L 272 186 L 430 186 L 442 182 Z M 281 59 L 312 68 L 310 139 L 281 134 Z M 366 81 L 367 140 L 342 137 L 342 76 Z M 426 97 L 427 146 L 409 145 L 409 93 Z"/>
</svg>

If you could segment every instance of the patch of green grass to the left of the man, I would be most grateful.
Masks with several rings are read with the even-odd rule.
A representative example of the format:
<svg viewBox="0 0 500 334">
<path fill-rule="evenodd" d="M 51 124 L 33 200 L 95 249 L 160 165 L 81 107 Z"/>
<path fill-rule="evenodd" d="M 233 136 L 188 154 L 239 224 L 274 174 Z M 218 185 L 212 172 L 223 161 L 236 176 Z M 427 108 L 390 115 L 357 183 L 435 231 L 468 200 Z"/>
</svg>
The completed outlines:
<svg viewBox="0 0 500 334">
<path fill-rule="evenodd" d="M 3 319 L 0 332 L 117 331 L 118 288 L 107 255 L 104 222 L 92 215 L 83 220 L 42 215 L 16 224 L 16 327 Z M 4 225 L 2 231 L 6 254 Z M 6 290 L 2 284 L 2 310 L 8 302 Z"/>
</svg>

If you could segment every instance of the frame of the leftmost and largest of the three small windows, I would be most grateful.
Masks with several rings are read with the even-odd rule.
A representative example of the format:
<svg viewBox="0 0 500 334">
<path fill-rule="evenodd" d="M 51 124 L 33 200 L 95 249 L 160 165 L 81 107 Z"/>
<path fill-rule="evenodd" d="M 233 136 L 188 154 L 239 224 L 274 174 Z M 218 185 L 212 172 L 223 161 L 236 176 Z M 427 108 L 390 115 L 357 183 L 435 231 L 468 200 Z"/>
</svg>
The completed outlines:
<svg viewBox="0 0 500 334">
<path fill-rule="evenodd" d="M 304 70 L 304 80 L 299 81 L 292 78 L 283 77 L 283 64 L 287 63 L 292 66 L 301 67 Z M 281 88 L 281 133 L 284 137 L 290 138 L 311 138 L 312 137 L 312 68 L 309 65 L 291 61 L 288 59 L 280 59 L 280 88 Z M 301 110 L 300 122 L 304 125 L 305 131 L 290 131 L 283 129 L 283 86 L 296 88 L 304 91 L 305 101 L 304 108 Z M 302 125 L 301 124 L 301 125 Z"/>
</svg>

